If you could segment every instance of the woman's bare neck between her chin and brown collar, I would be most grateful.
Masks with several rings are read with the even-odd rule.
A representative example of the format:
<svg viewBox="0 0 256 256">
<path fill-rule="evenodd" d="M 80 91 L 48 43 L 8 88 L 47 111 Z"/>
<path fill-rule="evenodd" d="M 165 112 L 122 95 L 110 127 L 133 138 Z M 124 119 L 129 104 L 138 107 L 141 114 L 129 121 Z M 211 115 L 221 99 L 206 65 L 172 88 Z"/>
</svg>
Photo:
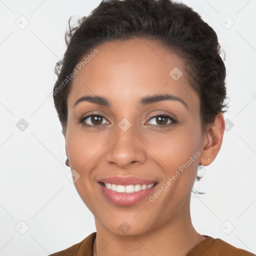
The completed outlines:
<svg viewBox="0 0 256 256">
<path fill-rule="evenodd" d="M 189 197 L 190 202 L 190 197 Z M 194 229 L 189 203 L 163 225 L 137 235 L 118 235 L 109 232 L 95 220 L 96 240 L 93 255 L 175 255 L 185 256 L 205 237 Z"/>
</svg>

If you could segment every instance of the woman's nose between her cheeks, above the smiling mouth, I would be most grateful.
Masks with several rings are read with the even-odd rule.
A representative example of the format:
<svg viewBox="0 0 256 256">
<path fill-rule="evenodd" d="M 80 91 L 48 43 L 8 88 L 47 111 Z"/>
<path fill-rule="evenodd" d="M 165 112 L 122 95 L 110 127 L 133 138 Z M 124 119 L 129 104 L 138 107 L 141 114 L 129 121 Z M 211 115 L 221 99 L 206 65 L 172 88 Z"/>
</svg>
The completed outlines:
<svg viewBox="0 0 256 256">
<path fill-rule="evenodd" d="M 135 133 L 132 125 L 126 131 L 116 125 L 115 135 L 108 143 L 106 161 L 125 169 L 131 165 L 142 164 L 145 160 L 146 146 L 142 142 L 141 135 Z"/>
</svg>

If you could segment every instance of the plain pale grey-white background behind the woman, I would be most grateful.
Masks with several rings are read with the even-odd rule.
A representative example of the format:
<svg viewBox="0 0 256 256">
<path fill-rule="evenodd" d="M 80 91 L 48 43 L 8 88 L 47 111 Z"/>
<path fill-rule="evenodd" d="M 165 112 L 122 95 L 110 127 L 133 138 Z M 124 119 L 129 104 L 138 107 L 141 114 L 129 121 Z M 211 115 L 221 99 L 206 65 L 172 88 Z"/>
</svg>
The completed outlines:
<svg viewBox="0 0 256 256">
<path fill-rule="evenodd" d="M 183 2 L 217 32 L 230 98 L 219 155 L 195 184 L 206 194 L 192 196 L 192 222 L 201 234 L 256 253 L 256 0 Z M 68 18 L 87 15 L 99 3 L 0 0 L 2 256 L 47 255 L 95 231 L 93 215 L 68 179 L 64 137 L 46 95 L 65 51 Z"/>
</svg>

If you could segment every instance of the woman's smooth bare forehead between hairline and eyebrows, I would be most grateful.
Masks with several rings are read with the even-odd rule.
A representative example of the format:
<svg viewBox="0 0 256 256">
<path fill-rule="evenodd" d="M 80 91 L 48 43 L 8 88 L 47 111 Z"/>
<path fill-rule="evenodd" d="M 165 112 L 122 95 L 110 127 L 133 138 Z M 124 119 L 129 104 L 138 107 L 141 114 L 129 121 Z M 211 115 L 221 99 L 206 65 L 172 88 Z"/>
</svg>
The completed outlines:
<svg viewBox="0 0 256 256">
<path fill-rule="evenodd" d="M 90 55 L 95 49 L 97 53 Z M 144 38 L 115 40 L 95 49 L 83 56 L 81 61 L 87 57 L 86 62 L 76 68 L 68 104 L 85 94 L 105 96 L 113 104 L 156 93 L 198 101 L 186 80 L 185 60 L 159 42 Z"/>
</svg>

